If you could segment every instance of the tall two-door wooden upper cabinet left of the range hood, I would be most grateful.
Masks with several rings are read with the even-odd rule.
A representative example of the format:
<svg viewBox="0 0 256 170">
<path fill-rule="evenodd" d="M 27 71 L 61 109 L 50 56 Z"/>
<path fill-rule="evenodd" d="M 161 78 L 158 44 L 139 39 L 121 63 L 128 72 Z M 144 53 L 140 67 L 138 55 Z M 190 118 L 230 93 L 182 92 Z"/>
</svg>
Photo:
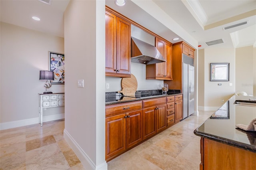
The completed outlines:
<svg viewBox="0 0 256 170">
<path fill-rule="evenodd" d="M 106 11 L 106 76 L 131 76 L 131 24 Z"/>
</svg>

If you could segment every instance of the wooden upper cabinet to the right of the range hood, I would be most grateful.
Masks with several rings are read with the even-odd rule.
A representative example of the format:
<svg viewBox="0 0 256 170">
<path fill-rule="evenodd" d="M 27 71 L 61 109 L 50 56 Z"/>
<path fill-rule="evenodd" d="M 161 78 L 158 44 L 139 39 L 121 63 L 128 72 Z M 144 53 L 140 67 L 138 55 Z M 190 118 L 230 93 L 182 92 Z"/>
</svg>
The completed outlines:
<svg viewBox="0 0 256 170">
<path fill-rule="evenodd" d="M 172 80 L 172 43 L 156 38 L 155 45 L 166 62 L 146 65 L 146 79 Z"/>
</svg>

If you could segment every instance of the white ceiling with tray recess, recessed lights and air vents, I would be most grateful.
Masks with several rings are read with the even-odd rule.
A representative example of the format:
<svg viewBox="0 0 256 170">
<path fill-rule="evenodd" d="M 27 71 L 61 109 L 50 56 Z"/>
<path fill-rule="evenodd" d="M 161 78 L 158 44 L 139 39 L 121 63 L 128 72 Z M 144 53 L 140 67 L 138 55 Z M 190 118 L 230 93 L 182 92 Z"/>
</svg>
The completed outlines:
<svg viewBox="0 0 256 170">
<path fill-rule="evenodd" d="M 50 1 L 49 5 L 39 0 L 0 0 L 0 21 L 64 37 L 69 0 Z M 198 49 L 256 46 L 255 0 L 126 0 L 122 7 L 106 0 L 106 5 L 172 43 L 201 45 Z M 248 24 L 223 30 L 245 21 Z M 176 37 L 180 39 L 172 40 Z M 218 39 L 223 43 L 206 45 Z"/>
</svg>

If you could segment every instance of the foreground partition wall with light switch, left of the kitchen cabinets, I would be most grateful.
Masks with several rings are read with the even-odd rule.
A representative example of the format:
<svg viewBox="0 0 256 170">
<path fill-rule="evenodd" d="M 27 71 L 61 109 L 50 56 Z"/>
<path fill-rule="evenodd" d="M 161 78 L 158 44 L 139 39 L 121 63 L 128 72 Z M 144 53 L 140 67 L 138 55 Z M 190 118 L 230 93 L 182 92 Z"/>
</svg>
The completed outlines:
<svg viewBox="0 0 256 170">
<path fill-rule="evenodd" d="M 86 169 L 106 169 L 105 1 L 70 1 L 64 23 L 64 138 Z"/>
</svg>

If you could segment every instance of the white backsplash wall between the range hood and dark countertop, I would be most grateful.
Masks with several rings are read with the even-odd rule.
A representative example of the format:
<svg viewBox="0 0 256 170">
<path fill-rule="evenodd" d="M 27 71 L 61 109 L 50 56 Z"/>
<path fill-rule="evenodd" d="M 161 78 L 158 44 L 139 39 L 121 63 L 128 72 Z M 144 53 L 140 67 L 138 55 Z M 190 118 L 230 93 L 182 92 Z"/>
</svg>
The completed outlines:
<svg viewBox="0 0 256 170">
<path fill-rule="evenodd" d="M 136 77 L 138 82 L 137 90 L 155 90 L 161 89 L 163 80 L 146 80 L 146 65 L 139 63 L 131 63 L 131 73 Z M 106 76 L 106 83 L 109 83 L 109 89 L 106 92 L 122 90 L 120 77 Z M 106 85 L 105 85 L 106 88 Z"/>
</svg>

